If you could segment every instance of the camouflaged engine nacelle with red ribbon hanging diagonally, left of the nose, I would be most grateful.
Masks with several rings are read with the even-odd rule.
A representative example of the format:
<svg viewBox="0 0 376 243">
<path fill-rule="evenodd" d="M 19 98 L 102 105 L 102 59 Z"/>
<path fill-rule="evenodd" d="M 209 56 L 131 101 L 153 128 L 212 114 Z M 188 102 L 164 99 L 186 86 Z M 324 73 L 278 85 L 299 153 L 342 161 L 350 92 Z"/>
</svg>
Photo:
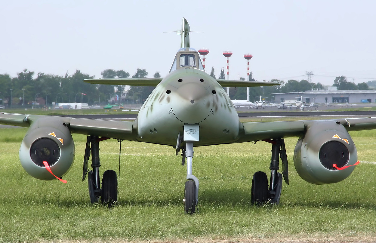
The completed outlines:
<svg viewBox="0 0 376 243">
<path fill-rule="evenodd" d="M 34 122 L 20 147 L 20 161 L 26 172 L 41 180 L 56 179 L 45 168 L 46 161 L 53 174 L 62 177 L 73 165 L 74 142 L 67 126 L 59 119 L 38 119 Z"/>
</svg>

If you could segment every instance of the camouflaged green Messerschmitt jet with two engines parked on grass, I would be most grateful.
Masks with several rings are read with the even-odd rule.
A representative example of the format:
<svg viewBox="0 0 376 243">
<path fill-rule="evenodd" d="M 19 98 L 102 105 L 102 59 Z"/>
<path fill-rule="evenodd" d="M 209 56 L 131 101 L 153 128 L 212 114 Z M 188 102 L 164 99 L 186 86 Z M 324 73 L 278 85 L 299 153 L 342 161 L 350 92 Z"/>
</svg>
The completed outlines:
<svg viewBox="0 0 376 243">
<path fill-rule="evenodd" d="M 193 214 L 199 202 L 199 181 L 192 173 L 196 146 L 266 141 L 271 144 L 270 180 L 264 172 L 252 179 L 254 204 L 278 204 L 282 178 L 288 184 L 285 137 L 298 137 L 294 166 L 312 184 L 347 178 L 358 164 L 355 144 L 348 131 L 375 129 L 376 118 L 242 123 L 223 87 L 277 85 L 271 82 L 213 79 L 205 73 L 199 54 L 190 48 L 190 27 L 183 19 L 181 49 L 164 78 L 86 79 L 91 84 L 156 86 L 134 122 L 0 113 L 0 123 L 29 127 L 20 147 L 20 161 L 31 176 L 62 179 L 71 168 L 74 142 L 71 134 L 87 135 L 83 180 L 88 175 L 91 202 L 117 200 L 117 176 L 107 170 L 100 182 L 99 143 L 107 138 L 172 146 L 182 150 L 187 166 L 184 211 Z M 251 152 L 252 153 L 252 152 Z M 91 156 L 91 170 L 88 161 Z M 279 173 L 281 161 L 281 173 Z"/>
</svg>

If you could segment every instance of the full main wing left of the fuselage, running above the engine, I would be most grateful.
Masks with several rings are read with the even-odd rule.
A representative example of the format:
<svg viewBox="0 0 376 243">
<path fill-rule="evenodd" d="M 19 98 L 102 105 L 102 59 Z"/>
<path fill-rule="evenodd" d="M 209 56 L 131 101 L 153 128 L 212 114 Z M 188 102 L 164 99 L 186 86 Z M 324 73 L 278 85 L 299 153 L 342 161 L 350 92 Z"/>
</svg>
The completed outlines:
<svg viewBox="0 0 376 243">
<path fill-rule="evenodd" d="M 54 132 L 63 124 L 70 133 L 94 135 L 99 137 L 117 138 L 136 141 L 136 131 L 133 130 L 133 122 L 97 120 L 87 118 L 70 118 L 45 115 L 26 115 L 0 113 L 0 124 L 40 128 L 43 127 L 46 134 Z M 41 132 L 41 135 L 43 132 Z"/>
</svg>

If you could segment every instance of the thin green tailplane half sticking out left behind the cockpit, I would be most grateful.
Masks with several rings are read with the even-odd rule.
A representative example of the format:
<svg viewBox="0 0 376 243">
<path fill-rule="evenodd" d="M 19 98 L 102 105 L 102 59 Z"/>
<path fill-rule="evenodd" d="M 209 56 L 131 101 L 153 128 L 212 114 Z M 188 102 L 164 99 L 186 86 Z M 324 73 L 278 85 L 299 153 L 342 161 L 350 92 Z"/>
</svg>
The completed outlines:
<svg viewBox="0 0 376 243">
<path fill-rule="evenodd" d="M 135 85 L 135 86 L 157 86 L 162 77 L 150 78 L 129 78 L 129 79 L 84 79 L 83 82 L 90 84 L 111 84 L 111 85 Z"/>
</svg>

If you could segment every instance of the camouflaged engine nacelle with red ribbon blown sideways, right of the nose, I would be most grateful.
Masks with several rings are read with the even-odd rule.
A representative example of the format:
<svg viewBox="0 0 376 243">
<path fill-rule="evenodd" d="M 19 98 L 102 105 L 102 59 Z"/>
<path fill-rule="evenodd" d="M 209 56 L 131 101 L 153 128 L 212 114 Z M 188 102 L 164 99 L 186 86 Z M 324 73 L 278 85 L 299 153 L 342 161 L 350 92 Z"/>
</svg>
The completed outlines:
<svg viewBox="0 0 376 243">
<path fill-rule="evenodd" d="M 349 132 L 339 122 L 318 121 L 308 125 L 294 150 L 294 166 L 305 181 L 312 184 L 336 183 L 354 170 L 358 155 Z M 350 166 L 343 170 L 333 167 Z"/>
</svg>

